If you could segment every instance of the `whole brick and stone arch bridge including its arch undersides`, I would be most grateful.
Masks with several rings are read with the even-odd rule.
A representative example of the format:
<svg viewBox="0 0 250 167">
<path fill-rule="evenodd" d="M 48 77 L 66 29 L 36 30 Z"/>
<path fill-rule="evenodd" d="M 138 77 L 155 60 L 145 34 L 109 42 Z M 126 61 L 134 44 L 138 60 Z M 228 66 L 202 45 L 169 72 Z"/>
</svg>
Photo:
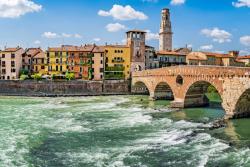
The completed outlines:
<svg viewBox="0 0 250 167">
<path fill-rule="evenodd" d="M 171 106 L 176 108 L 208 105 L 205 94 L 210 85 L 221 96 L 227 117 L 250 116 L 250 68 L 172 66 L 132 75 L 132 93 L 173 99 Z"/>
</svg>

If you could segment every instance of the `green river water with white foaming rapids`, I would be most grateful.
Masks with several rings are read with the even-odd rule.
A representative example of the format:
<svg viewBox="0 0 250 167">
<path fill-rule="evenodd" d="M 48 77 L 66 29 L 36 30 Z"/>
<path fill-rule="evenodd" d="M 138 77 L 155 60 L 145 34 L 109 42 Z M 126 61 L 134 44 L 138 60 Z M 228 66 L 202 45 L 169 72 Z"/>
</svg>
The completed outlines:
<svg viewBox="0 0 250 167">
<path fill-rule="evenodd" d="M 250 119 L 147 99 L 0 97 L 0 167 L 250 166 Z"/>
</svg>

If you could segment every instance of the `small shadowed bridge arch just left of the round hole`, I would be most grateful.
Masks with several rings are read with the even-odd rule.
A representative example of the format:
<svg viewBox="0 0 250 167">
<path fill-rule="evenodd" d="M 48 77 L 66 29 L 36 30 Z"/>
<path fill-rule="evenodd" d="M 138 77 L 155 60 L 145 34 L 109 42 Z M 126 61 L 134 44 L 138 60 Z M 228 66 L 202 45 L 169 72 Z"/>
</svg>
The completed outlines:
<svg viewBox="0 0 250 167">
<path fill-rule="evenodd" d="M 174 93 L 172 88 L 167 82 L 159 82 L 156 84 L 154 89 L 154 99 L 167 99 L 167 100 L 173 100 L 174 99 Z"/>
</svg>

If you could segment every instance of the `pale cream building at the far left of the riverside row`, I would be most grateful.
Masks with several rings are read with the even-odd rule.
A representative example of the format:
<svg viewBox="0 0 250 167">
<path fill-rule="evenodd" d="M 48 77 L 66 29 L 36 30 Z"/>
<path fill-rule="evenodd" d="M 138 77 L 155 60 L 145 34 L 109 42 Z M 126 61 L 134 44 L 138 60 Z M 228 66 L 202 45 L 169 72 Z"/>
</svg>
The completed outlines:
<svg viewBox="0 0 250 167">
<path fill-rule="evenodd" d="M 20 47 L 6 48 L 1 54 L 1 79 L 16 80 L 22 68 L 24 50 Z"/>
</svg>

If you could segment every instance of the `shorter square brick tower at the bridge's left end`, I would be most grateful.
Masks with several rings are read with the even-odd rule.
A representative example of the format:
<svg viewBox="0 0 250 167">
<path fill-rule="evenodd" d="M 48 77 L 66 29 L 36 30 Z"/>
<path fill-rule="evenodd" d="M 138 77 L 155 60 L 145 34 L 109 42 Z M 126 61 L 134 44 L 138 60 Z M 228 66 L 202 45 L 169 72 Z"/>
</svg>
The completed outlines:
<svg viewBox="0 0 250 167">
<path fill-rule="evenodd" d="M 146 32 L 131 30 L 127 32 L 127 45 L 131 50 L 131 72 L 145 69 Z"/>
</svg>

